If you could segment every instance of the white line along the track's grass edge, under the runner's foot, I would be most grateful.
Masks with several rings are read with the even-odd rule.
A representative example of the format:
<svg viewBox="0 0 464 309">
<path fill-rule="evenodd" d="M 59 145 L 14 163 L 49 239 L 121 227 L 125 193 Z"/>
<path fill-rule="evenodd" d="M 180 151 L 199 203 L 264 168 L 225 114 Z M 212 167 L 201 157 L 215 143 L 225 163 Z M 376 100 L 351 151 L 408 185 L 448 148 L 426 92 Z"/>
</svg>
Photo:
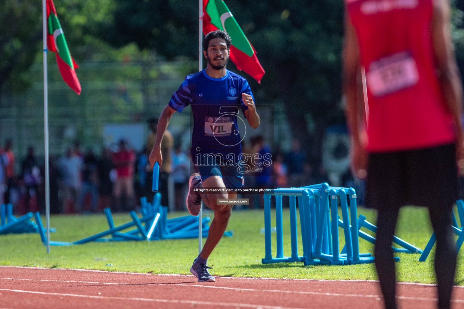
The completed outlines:
<svg viewBox="0 0 464 309">
<path fill-rule="evenodd" d="M 130 274 L 130 275 L 146 275 L 146 276 L 166 276 L 166 277 L 195 277 L 193 275 L 185 274 L 149 274 L 144 272 L 126 272 L 126 271 L 101 271 L 97 269 L 82 269 L 82 268 L 46 268 L 46 267 L 31 267 L 31 266 L 8 266 L 0 265 L 0 267 L 9 267 L 9 268 L 27 268 L 35 270 L 59 270 L 59 271 L 89 271 L 89 272 L 103 272 L 111 274 Z M 260 277 L 220 277 L 221 279 L 249 279 L 249 280 L 291 280 L 291 281 L 322 281 L 322 282 L 379 282 L 379 280 L 330 280 L 330 279 L 296 279 L 296 278 L 260 278 Z M 430 283 L 418 283 L 418 282 L 397 282 L 397 284 L 406 284 L 406 285 L 420 285 L 420 286 L 437 286 L 437 284 Z M 454 285 L 454 288 L 464 288 L 464 285 Z"/>
</svg>

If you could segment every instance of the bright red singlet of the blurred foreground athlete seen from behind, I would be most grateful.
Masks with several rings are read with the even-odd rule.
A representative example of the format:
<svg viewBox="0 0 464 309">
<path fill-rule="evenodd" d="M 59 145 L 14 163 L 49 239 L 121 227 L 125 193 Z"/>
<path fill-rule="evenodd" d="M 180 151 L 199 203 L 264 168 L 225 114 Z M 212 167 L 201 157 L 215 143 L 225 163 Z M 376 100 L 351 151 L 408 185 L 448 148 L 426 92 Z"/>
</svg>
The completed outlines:
<svg viewBox="0 0 464 309">
<path fill-rule="evenodd" d="M 432 0 L 347 0 L 365 69 L 369 152 L 454 141 L 433 58 L 432 5 Z"/>
</svg>

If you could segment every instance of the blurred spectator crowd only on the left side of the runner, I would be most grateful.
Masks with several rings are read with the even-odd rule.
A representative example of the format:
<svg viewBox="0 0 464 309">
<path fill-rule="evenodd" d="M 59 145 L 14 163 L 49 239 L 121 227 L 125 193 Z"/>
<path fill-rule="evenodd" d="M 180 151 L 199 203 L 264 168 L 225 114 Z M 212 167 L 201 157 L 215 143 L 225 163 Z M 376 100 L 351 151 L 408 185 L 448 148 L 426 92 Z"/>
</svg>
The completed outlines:
<svg viewBox="0 0 464 309">
<path fill-rule="evenodd" d="M 148 120 L 151 128 L 147 145 L 140 153 L 121 139 L 110 147 L 81 148 L 80 142 L 65 149 L 61 156 L 50 156 L 50 212 L 52 214 L 97 213 L 110 207 L 113 212 L 128 212 L 140 205 L 140 197 L 153 200 L 152 172 L 148 156 L 155 143 L 157 119 Z M 185 210 L 190 156 L 167 132 L 162 141 L 165 158 L 160 170 L 160 192 L 171 210 Z M 34 147 L 25 158 L 16 158 L 13 143 L 0 146 L 0 204 L 13 204 L 15 214 L 45 211 L 44 158 L 37 158 Z"/>
</svg>

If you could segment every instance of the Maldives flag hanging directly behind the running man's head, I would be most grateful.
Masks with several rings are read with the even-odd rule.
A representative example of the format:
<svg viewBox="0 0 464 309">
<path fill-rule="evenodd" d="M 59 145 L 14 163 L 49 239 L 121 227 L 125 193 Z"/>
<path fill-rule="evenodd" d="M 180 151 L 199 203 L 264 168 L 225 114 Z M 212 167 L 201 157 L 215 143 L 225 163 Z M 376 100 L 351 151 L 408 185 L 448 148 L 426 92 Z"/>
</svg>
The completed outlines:
<svg viewBox="0 0 464 309">
<path fill-rule="evenodd" d="M 256 50 L 245 37 L 237 21 L 223 0 L 203 0 L 203 33 L 216 29 L 229 33 L 232 38 L 230 59 L 237 69 L 244 70 L 248 75 L 261 82 L 264 69 L 256 57 Z"/>
</svg>

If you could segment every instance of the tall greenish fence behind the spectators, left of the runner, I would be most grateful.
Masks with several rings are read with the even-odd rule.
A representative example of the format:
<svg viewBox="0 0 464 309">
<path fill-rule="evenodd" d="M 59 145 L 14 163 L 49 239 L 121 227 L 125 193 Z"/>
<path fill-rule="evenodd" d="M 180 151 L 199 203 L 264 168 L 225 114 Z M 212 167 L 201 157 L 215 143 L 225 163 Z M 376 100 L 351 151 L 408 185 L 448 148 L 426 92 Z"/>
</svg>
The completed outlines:
<svg viewBox="0 0 464 309">
<path fill-rule="evenodd" d="M 56 64 L 49 67 L 50 153 L 60 155 L 78 140 L 98 151 L 104 143 L 103 128 L 108 124 L 141 124 L 148 134 L 146 120 L 158 116 L 192 62 L 85 62 L 77 69 L 82 85 L 75 94 L 62 80 Z M 13 140 L 17 158 L 28 146 L 36 155 L 44 154 L 43 67 L 30 71 L 32 87 L 21 95 L 4 96 L 0 105 L 0 143 Z M 189 128 L 189 113 L 175 117 L 170 127 Z"/>
</svg>

